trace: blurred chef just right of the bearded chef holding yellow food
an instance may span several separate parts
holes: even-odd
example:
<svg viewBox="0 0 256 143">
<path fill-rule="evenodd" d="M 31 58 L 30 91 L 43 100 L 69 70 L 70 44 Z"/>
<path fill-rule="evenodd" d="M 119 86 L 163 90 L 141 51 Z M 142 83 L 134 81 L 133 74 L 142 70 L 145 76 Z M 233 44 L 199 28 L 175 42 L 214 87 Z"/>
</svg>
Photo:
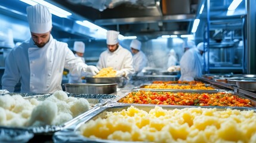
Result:
<svg viewBox="0 0 256 143">
<path fill-rule="evenodd" d="M 143 51 L 140 50 L 141 42 L 137 39 L 133 39 L 129 45 L 133 55 L 133 67 L 135 74 L 140 74 L 144 67 L 147 66 L 147 57 Z"/>
</svg>

